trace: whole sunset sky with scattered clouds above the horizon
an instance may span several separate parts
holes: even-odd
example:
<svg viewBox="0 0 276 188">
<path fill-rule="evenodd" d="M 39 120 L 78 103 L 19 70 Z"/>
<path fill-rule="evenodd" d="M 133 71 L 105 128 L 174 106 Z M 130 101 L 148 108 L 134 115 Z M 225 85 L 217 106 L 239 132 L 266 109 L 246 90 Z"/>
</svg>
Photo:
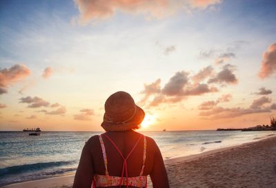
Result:
<svg viewBox="0 0 276 188">
<path fill-rule="evenodd" d="M 276 3 L 0 2 L 0 130 L 103 131 L 131 94 L 141 131 L 266 125 L 276 116 Z"/>
</svg>

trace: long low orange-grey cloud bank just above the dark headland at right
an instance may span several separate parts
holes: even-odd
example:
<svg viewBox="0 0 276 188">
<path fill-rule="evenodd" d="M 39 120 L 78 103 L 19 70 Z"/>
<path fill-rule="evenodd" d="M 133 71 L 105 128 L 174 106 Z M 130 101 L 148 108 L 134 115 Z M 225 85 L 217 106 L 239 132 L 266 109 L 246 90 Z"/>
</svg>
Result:
<svg viewBox="0 0 276 188">
<path fill-rule="evenodd" d="M 212 105 L 209 109 L 205 109 L 205 111 L 199 112 L 199 116 L 209 116 L 210 119 L 217 119 L 217 118 L 235 118 L 237 116 L 243 116 L 245 114 L 271 112 L 271 110 L 276 109 L 275 103 L 270 106 L 264 106 L 264 104 L 270 103 L 270 102 L 271 102 L 270 98 L 266 96 L 262 96 L 261 98 L 255 99 L 253 103 L 250 105 L 250 107 L 248 108 L 217 107 L 216 106 L 217 104 L 215 103 L 215 105 Z M 208 107 L 207 103 L 206 103 L 206 106 Z"/>
</svg>

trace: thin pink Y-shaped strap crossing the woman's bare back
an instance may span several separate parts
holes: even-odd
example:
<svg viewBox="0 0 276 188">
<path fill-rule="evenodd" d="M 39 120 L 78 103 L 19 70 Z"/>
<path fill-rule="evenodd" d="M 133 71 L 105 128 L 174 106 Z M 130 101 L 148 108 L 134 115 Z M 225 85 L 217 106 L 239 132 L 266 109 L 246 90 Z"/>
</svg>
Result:
<svg viewBox="0 0 276 188">
<path fill-rule="evenodd" d="M 134 147 L 132 147 L 131 151 L 129 152 L 128 156 L 126 156 L 126 158 L 124 158 L 123 154 L 121 153 L 121 150 L 119 149 L 119 147 L 117 147 L 117 145 L 113 142 L 113 140 L 111 140 L 111 138 L 109 138 L 109 136 L 107 136 L 106 134 L 103 134 L 104 136 L 106 136 L 106 138 L 108 138 L 108 140 L 110 140 L 110 143 L 112 143 L 112 145 L 115 147 L 115 149 L 117 149 L 117 152 L 121 155 L 121 158 L 124 159 L 124 165 L 123 165 L 123 169 L 121 171 L 121 182 L 120 182 L 120 187 L 121 184 L 123 182 L 123 178 L 124 178 L 124 172 L 126 170 L 126 187 L 128 188 L 128 163 L 126 163 L 126 161 L 128 160 L 129 156 L 132 154 L 132 152 L 134 151 L 134 149 L 136 148 L 136 146 L 139 143 L 139 140 L 141 140 L 142 136 L 141 135 L 137 142 L 135 143 Z"/>
</svg>

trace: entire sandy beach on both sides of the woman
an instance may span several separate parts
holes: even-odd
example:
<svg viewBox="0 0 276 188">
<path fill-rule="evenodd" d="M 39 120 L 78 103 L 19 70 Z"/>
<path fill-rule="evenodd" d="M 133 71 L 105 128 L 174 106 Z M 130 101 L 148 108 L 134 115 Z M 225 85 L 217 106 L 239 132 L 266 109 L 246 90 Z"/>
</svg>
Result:
<svg viewBox="0 0 276 188">
<path fill-rule="evenodd" d="M 276 136 L 165 163 L 170 187 L 276 187 Z M 65 188 L 72 187 L 73 180 L 70 174 L 6 187 Z"/>
</svg>

